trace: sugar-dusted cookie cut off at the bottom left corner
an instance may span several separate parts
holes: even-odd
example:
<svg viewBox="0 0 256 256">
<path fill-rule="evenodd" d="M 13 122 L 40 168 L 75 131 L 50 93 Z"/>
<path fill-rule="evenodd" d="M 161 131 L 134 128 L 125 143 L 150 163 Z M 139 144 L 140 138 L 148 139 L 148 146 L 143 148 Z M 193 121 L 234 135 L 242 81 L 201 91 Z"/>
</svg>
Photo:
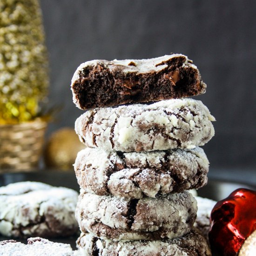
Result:
<svg viewBox="0 0 256 256">
<path fill-rule="evenodd" d="M 7 240 L 0 242 L 0 256 L 78 256 L 69 244 L 54 243 L 40 237 L 28 238 L 27 244 Z"/>
</svg>

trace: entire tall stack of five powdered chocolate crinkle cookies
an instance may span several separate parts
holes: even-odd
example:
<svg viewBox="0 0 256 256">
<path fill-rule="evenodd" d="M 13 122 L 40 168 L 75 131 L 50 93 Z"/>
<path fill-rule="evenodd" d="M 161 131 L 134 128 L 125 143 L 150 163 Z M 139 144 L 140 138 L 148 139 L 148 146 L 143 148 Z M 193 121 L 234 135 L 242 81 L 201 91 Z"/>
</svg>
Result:
<svg viewBox="0 0 256 256">
<path fill-rule="evenodd" d="M 197 206 L 187 191 L 207 183 L 209 162 L 198 146 L 214 135 L 208 108 L 186 98 L 205 92 L 197 67 L 182 54 L 88 61 L 71 88 L 74 103 L 87 110 L 75 122 L 87 146 L 74 164 L 79 249 L 93 256 L 210 255 L 193 228 Z"/>
</svg>

